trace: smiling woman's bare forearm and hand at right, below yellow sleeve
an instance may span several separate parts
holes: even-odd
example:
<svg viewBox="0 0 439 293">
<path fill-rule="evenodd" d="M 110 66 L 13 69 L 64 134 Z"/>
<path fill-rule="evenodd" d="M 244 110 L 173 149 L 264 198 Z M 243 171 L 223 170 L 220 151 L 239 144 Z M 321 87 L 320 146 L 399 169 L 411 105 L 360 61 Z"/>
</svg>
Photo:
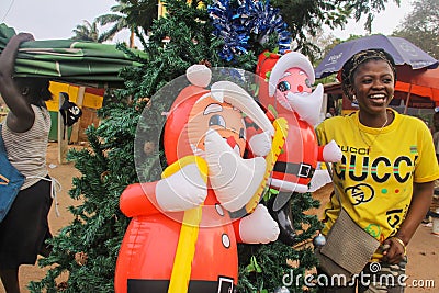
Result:
<svg viewBox="0 0 439 293">
<path fill-rule="evenodd" d="M 432 200 L 435 182 L 414 183 L 413 199 L 408 207 L 407 216 L 395 235 L 397 239 L 408 245 L 420 222 L 424 219 Z M 402 260 L 405 247 L 396 238 L 385 240 L 390 245 L 387 252 L 384 252 L 384 260 L 395 263 Z"/>
</svg>

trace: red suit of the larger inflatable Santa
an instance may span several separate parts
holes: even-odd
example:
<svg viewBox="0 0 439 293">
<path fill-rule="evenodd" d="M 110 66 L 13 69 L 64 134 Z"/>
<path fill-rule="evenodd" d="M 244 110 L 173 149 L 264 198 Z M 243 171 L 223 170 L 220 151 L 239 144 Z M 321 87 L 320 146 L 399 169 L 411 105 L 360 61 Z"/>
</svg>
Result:
<svg viewBox="0 0 439 293">
<path fill-rule="evenodd" d="M 157 183 L 130 185 L 121 209 L 133 217 L 117 260 L 116 292 L 167 292 L 176 257 L 183 213 L 162 213 L 148 199 Z M 238 263 L 235 229 L 210 189 L 192 262 L 188 292 L 228 292 L 237 283 Z M 206 227 L 206 228 L 203 228 Z M 126 285 L 125 285 L 126 284 Z M 123 288 L 126 288 L 125 291 Z M 223 291 L 225 290 L 225 291 Z"/>
</svg>

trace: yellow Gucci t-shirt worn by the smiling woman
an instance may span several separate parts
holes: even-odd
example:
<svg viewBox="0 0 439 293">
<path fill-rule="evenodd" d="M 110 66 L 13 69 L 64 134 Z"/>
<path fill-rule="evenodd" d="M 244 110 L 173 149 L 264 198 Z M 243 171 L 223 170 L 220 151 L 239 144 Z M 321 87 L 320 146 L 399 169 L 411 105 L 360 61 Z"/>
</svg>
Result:
<svg viewBox="0 0 439 293">
<path fill-rule="evenodd" d="M 382 129 L 360 124 L 358 112 L 327 119 L 316 129 L 322 145 L 334 139 L 341 148 L 341 161 L 333 165 L 333 181 L 342 206 L 381 243 L 395 235 L 404 221 L 413 182 L 439 178 L 435 146 L 426 124 L 393 112 L 394 121 Z M 325 210 L 323 234 L 333 226 L 339 209 L 333 194 Z"/>
</svg>

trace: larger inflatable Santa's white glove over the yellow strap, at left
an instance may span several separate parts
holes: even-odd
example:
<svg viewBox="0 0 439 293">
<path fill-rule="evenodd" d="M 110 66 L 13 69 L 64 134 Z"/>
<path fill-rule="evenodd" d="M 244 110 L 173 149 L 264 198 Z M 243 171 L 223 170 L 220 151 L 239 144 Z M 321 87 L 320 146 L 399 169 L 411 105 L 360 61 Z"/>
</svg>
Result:
<svg viewBox="0 0 439 293">
<path fill-rule="evenodd" d="M 180 212 L 201 205 L 207 196 L 205 179 L 195 162 L 188 164 L 156 185 L 158 205 L 167 212 Z"/>
</svg>

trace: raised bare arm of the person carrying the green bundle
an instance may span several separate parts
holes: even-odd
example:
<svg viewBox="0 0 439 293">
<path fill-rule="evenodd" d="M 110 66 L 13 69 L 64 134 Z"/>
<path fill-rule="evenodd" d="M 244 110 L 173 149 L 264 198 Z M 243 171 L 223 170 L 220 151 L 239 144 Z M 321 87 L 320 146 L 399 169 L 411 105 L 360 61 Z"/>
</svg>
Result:
<svg viewBox="0 0 439 293">
<path fill-rule="evenodd" d="M 12 76 L 20 44 L 33 40 L 33 36 L 26 33 L 14 35 L 0 55 L 0 94 L 10 109 L 7 123 L 8 127 L 19 133 L 31 128 L 35 116 L 30 102 L 21 93 Z"/>
</svg>

